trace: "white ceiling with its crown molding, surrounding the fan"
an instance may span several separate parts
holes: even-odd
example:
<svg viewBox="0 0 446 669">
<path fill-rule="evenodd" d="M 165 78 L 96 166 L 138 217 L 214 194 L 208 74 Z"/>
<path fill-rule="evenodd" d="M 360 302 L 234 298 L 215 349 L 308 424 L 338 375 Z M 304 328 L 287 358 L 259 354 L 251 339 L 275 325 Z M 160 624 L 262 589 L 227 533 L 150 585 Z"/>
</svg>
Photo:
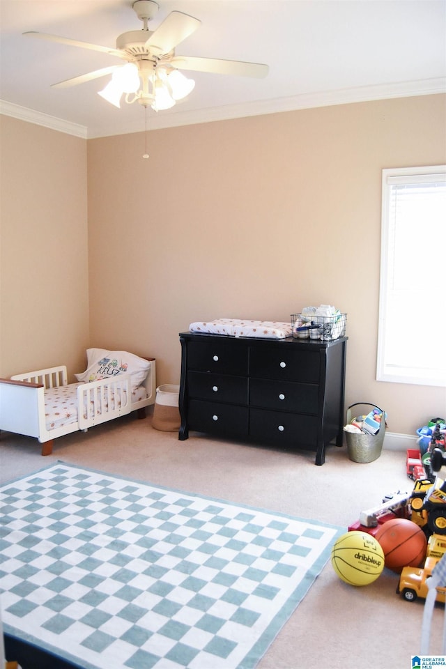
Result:
<svg viewBox="0 0 446 669">
<path fill-rule="evenodd" d="M 185 72 L 194 91 L 165 112 L 149 109 L 148 129 L 446 90 L 446 0 L 157 2 L 152 30 L 173 10 L 201 20 L 177 55 L 268 63 L 270 72 L 266 79 Z M 50 88 L 122 61 L 22 36 L 39 31 L 115 47 L 119 34 L 141 28 L 132 0 L 0 0 L 0 111 L 41 112 L 84 137 L 144 130 L 143 107 L 116 109 L 97 95 L 109 77 Z"/>
</svg>

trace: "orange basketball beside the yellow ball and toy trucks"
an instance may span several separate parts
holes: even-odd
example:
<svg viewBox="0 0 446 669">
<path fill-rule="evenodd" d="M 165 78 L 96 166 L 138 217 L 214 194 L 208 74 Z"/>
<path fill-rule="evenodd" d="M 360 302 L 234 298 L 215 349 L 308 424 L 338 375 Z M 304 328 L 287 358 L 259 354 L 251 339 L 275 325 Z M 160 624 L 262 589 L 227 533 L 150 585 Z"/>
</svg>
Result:
<svg viewBox="0 0 446 669">
<path fill-rule="evenodd" d="M 392 518 L 383 523 L 375 537 L 383 548 L 385 566 L 397 574 L 403 567 L 420 567 L 426 557 L 426 536 L 408 518 Z"/>
</svg>

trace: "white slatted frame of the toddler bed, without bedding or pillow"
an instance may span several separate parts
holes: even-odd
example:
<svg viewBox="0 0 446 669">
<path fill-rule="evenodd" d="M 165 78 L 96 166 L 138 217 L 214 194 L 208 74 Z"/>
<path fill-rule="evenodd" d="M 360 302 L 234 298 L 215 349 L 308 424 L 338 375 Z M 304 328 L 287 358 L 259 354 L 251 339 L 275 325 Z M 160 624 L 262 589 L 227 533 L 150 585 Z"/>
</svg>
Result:
<svg viewBox="0 0 446 669">
<path fill-rule="evenodd" d="M 87 415 L 79 410 L 76 422 L 47 430 L 45 424 L 45 390 L 68 385 L 65 365 L 38 369 L 11 378 L 0 378 L 0 431 L 37 437 L 42 444 L 42 455 L 52 453 L 53 440 L 89 427 L 113 420 L 137 410 L 138 417 L 146 416 L 146 406 L 155 403 L 156 363 L 154 358 L 146 358 L 151 363 L 143 385 L 146 399 L 132 402 L 130 374 L 119 374 L 77 387 L 77 406 L 87 407 Z M 126 392 L 123 392 L 126 391 Z M 119 393 L 121 402 L 114 402 L 114 392 Z M 116 396 L 117 397 L 117 396 Z M 118 405 L 118 406 L 115 406 Z M 95 407 L 100 406 L 96 411 Z"/>
</svg>

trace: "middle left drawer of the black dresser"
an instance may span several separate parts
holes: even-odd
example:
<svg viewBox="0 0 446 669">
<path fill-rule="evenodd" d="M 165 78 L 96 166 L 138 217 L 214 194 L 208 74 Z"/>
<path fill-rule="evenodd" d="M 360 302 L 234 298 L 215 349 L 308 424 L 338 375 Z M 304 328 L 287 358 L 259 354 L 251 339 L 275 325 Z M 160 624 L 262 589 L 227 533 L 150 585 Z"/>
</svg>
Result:
<svg viewBox="0 0 446 669">
<path fill-rule="evenodd" d="M 247 376 L 190 371 L 187 376 L 187 392 L 189 397 L 196 399 L 247 405 L 248 380 Z"/>
</svg>

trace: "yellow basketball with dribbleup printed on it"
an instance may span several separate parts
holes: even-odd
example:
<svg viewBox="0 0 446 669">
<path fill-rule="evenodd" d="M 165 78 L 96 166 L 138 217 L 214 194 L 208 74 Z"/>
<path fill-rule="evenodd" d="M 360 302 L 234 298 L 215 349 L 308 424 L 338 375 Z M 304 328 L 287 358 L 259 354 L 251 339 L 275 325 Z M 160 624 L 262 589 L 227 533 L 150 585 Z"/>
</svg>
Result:
<svg viewBox="0 0 446 669">
<path fill-rule="evenodd" d="M 346 532 L 333 544 L 332 566 L 348 585 L 369 585 L 384 569 L 384 553 L 367 532 Z"/>
</svg>

